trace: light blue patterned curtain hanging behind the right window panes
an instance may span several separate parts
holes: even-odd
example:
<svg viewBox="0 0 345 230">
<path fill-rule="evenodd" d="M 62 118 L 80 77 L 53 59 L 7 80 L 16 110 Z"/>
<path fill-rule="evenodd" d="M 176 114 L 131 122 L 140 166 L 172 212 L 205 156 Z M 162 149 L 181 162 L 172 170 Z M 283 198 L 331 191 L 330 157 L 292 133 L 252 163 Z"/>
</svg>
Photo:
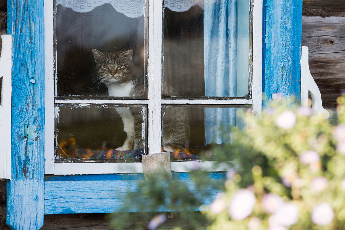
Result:
<svg viewBox="0 0 345 230">
<path fill-rule="evenodd" d="M 237 0 L 205 0 L 205 96 L 236 97 L 237 13 Z M 219 127 L 235 124 L 235 108 L 205 108 L 205 144 L 223 143 Z"/>
</svg>

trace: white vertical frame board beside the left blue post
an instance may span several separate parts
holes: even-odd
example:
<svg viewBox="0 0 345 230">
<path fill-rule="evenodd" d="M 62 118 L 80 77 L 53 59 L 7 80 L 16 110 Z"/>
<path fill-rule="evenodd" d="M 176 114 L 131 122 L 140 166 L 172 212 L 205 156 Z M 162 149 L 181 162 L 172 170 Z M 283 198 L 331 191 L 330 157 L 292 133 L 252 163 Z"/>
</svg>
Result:
<svg viewBox="0 0 345 230">
<path fill-rule="evenodd" d="M 45 174 L 54 173 L 54 21 L 53 1 L 45 0 Z"/>
</svg>

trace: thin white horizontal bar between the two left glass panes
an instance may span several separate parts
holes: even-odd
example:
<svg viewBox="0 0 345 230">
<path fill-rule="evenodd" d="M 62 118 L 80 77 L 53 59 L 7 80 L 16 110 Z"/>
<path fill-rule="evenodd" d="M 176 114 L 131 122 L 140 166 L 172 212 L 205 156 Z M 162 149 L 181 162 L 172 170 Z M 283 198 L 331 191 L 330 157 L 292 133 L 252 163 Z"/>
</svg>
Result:
<svg viewBox="0 0 345 230">
<path fill-rule="evenodd" d="M 148 104 L 148 100 L 55 100 L 56 104 Z"/>
</svg>

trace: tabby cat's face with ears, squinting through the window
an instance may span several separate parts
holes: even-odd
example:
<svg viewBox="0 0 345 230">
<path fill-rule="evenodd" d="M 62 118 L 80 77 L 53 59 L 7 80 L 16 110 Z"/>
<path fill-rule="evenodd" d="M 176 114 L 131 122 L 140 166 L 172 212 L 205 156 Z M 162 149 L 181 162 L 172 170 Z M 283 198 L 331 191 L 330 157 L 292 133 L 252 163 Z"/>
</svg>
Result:
<svg viewBox="0 0 345 230">
<path fill-rule="evenodd" d="M 96 72 L 104 83 L 127 83 L 132 80 L 134 64 L 132 60 L 133 50 L 125 52 L 102 53 L 92 49 L 96 62 Z"/>
</svg>

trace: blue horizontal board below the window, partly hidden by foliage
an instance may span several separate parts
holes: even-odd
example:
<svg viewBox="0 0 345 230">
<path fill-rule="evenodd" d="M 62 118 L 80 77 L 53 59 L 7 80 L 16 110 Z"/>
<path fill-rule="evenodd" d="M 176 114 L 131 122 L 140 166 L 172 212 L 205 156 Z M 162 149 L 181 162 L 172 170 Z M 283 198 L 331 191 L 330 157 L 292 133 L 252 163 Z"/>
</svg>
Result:
<svg viewBox="0 0 345 230">
<path fill-rule="evenodd" d="M 124 207 L 124 196 L 128 191 L 137 192 L 136 181 L 142 174 L 124 174 L 122 176 L 65 176 L 50 177 L 45 181 L 45 214 L 66 213 L 110 213 Z M 201 196 L 188 173 L 173 173 L 173 178 L 183 180 L 189 189 Z M 90 179 L 92 178 L 92 179 Z M 210 173 L 212 179 L 225 179 L 224 173 Z M 162 181 L 162 183 L 166 183 Z M 210 204 L 219 191 L 208 190 L 200 200 Z M 204 198 L 204 196 L 206 198 Z M 138 199 L 140 196 L 138 195 Z M 135 202 L 135 201 L 134 201 Z M 132 212 L 138 211 L 133 208 Z M 142 211 L 142 210 L 141 210 Z M 170 211 L 170 210 L 157 210 Z"/>
</svg>

